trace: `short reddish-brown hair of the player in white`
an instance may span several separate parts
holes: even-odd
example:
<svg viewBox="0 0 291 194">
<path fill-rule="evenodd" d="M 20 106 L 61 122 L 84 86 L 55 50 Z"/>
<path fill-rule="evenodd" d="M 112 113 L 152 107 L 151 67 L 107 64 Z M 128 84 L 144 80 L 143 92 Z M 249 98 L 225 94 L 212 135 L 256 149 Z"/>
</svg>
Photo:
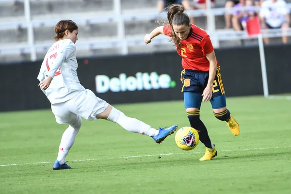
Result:
<svg viewBox="0 0 291 194">
<path fill-rule="evenodd" d="M 56 26 L 54 28 L 55 33 L 57 35 L 54 36 L 53 38 L 55 40 L 59 40 L 59 39 L 64 37 L 66 30 L 69 30 L 69 32 L 73 32 L 74 30 L 77 30 L 77 29 L 78 29 L 77 24 L 75 22 L 73 22 L 72 20 L 70 20 L 70 19 L 61 20 L 56 24 Z"/>
</svg>

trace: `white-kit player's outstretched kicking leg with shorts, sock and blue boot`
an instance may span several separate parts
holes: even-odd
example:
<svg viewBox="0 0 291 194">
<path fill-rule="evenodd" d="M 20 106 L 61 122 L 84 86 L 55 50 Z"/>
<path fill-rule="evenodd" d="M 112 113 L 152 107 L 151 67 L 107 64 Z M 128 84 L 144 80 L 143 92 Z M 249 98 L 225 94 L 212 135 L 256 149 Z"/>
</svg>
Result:
<svg viewBox="0 0 291 194">
<path fill-rule="evenodd" d="M 112 121 L 128 131 L 148 135 L 159 144 L 168 135 L 173 134 L 178 128 L 177 125 L 162 129 L 151 128 L 146 123 L 136 118 L 126 116 L 121 111 L 109 105 L 103 99 L 96 97 L 91 90 L 85 90 L 74 98 L 76 98 L 76 100 L 72 101 L 73 104 L 79 104 L 79 106 L 73 113 L 76 113 L 87 120 L 105 119 Z"/>
</svg>

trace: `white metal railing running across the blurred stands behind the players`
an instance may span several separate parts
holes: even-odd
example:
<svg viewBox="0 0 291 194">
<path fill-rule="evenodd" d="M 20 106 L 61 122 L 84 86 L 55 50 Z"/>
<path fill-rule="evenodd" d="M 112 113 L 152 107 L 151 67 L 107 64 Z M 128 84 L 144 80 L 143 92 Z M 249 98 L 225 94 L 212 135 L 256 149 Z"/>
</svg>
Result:
<svg viewBox="0 0 291 194">
<path fill-rule="evenodd" d="M 12 0 L 1 0 L 1 1 L 12 1 Z M 32 19 L 31 18 L 31 10 L 30 10 L 30 0 L 18 0 L 24 2 L 24 13 L 25 13 L 25 21 L 9 21 L 9 22 L 0 22 L 0 30 L 13 30 L 18 29 L 19 26 L 21 28 L 26 28 L 28 32 L 27 44 L 24 45 L 0 45 L 0 54 L 16 54 L 16 53 L 30 53 L 31 61 L 36 60 L 37 52 L 45 52 L 51 44 L 35 44 L 33 29 L 47 26 L 53 27 L 59 19 Z M 210 1 L 210 0 L 208 0 Z M 145 45 L 143 38 L 144 36 L 135 36 L 135 37 L 127 37 L 125 35 L 125 25 L 126 21 L 142 21 L 142 20 L 155 20 L 159 18 L 166 18 L 166 13 L 157 13 L 157 12 L 149 12 L 149 13 L 139 13 L 139 14 L 123 14 L 121 11 L 121 3 L 120 0 L 113 0 L 114 3 L 114 14 L 106 15 L 106 16 L 86 16 L 71 18 L 77 24 L 98 24 L 98 23 L 108 23 L 108 22 L 117 22 L 117 38 L 110 38 L 106 40 L 90 40 L 90 41 L 78 41 L 78 49 L 104 49 L 104 48 L 122 48 L 121 54 L 128 54 L 128 48 L 131 46 L 141 46 Z M 291 4 L 288 4 L 288 7 L 291 8 Z M 245 9 L 245 8 L 242 8 Z M 255 10 L 259 10 L 259 7 L 255 7 Z M 234 8 L 226 10 L 225 8 L 213 8 L 206 10 L 189 10 L 187 14 L 189 16 L 207 16 L 207 32 L 210 34 L 213 46 L 215 48 L 219 47 L 219 41 L 221 40 L 239 40 L 239 39 L 249 39 L 249 38 L 257 38 L 248 37 L 245 31 L 235 32 L 217 32 L 215 30 L 215 20 L 214 16 L 224 15 L 226 12 L 232 13 Z M 288 36 L 291 36 L 291 29 L 287 32 Z M 280 37 L 282 36 L 282 32 L 280 29 L 272 29 L 272 30 L 262 30 L 263 37 Z M 166 36 L 158 36 L 151 43 L 153 45 L 162 45 L 167 44 L 168 38 Z"/>
</svg>

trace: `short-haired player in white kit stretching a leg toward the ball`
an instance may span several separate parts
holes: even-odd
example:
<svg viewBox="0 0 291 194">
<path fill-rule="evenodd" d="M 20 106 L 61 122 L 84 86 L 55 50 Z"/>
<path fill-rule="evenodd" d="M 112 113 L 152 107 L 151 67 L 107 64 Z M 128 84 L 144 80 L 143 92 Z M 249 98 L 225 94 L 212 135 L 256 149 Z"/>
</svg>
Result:
<svg viewBox="0 0 291 194">
<path fill-rule="evenodd" d="M 72 20 L 61 20 L 55 28 L 57 34 L 55 42 L 48 50 L 41 65 L 37 79 L 38 86 L 48 97 L 51 110 L 59 124 L 67 124 L 58 157 L 53 170 L 71 168 L 65 162 L 65 157 L 75 142 L 82 124 L 81 117 L 87 120 L 106 119 L 118 123 L 131 132 L 145 134 L 152 137 L 156 143 L 162 141 L 178 128 L 151 128 L 146 123 L 126 116 L 103 99 L 85 89 L 77 75 L 76 41 L 78 40 L 78 26 Z"/>
</svg>

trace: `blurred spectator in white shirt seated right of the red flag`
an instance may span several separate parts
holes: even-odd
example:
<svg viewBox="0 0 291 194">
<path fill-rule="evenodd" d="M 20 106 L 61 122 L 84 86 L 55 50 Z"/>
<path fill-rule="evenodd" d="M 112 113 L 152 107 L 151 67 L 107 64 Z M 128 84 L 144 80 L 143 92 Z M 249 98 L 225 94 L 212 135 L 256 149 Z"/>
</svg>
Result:
<svg viewBox="0 0 291 194">
<path fill-rule="evenodd" d="M 262 29 L 279 29 L 283 31 L 282 42 L 288 43 L 288 31 L 290 14 L 285 0 L 265 0 L 259 12 Z M 269 44 L 269 38 L 264 38 L 265 44 Z"/>
</svg>

